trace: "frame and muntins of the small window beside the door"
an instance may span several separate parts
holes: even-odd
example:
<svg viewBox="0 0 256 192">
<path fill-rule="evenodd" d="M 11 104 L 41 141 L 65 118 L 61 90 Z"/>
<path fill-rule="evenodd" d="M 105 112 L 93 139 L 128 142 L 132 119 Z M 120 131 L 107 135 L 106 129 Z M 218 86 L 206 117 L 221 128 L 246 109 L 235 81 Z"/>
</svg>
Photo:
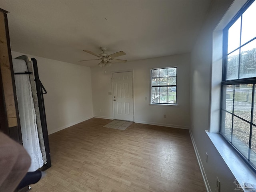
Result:
<svg viewBox="0 0 256 192">
<path fill-rule="evenodd" d="M 169 69 L 169 68 L 176 68 L 176 85 L 157 85 L 157 86 L 153 86 L 152 85 L 152 70 L 160 70 L 160 69 Z M 167 76 L 168 77 L 174 77 L 174 76 Z M 176 87 L 176 103 L 156 103 L 156 102 L 152 102 L 152 88 L 153 87 Z M 168 95 L 168 94 L 167 94 Z M 161 67 L 161 68 L 150 68 L 150 105 L 162 105 L 162 106 L 177 106 L 178 102 L 177 102 L 177 67 L 176 66 L 172 66 L 172 67 Z"/>
</svg>

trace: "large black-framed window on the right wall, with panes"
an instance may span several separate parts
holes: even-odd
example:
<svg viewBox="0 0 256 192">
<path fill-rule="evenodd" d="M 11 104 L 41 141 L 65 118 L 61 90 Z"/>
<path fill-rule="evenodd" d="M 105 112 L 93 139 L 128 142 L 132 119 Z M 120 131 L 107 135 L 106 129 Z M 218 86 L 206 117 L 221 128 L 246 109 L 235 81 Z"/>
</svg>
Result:
<svg viewBox="0 0 256 192">
<path fill-rule="evenodd" d="M 223 31 L 220 134 L 256 172 L 256 1 Z"/>
</svg>

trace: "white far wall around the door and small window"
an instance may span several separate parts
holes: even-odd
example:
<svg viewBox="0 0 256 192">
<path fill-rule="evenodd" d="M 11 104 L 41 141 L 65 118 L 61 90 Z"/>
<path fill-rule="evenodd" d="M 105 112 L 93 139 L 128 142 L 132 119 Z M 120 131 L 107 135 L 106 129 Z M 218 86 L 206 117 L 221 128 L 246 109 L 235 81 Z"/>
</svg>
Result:
<svg viewBox="0 0 256 192">
<path fill-rule="evenodd" d="M 178 106 L 150 106 L 150 68 L 177 66 L 177 101 Z M 102 68 L 91 68 L 92 98 L 94 116 L 100 118 L 113 118 L 111 72 L 133 70 L 134 72 L 134 111 L 135 122 L 156 124 L 176 128 L 189 128 L 190 126 L 190 54 L 152 58 L 126 62 L 125 64 L 112 64 Z M 148 100 L 145 100 L 145 97 Z M 166 114 L 167 118 L 164 118 Z"/>
</svg>

